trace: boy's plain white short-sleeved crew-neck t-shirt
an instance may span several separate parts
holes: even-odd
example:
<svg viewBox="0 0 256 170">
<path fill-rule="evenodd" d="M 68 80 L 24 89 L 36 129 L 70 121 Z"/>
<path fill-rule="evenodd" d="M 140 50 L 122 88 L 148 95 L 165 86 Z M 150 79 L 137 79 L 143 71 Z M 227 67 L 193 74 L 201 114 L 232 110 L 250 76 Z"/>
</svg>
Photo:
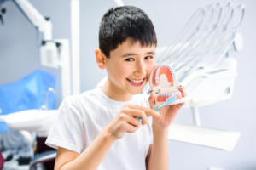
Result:
<svg viewBox="0 0 256 170">
<path fill-rule="evenodd" d="M 96 88 L 68 97 L 61 103 L 45 144 L 81 154 L 125 104 L 149 107 L 148 95 L 137 94 L 129 101 L 120 102 L 108 98 L 100 88 Z M 150 116 L 148 124 L 116 140 L 97 170 L 146 169 L 149 144 L 153 143 L 151 124 Z"/>
</svg>

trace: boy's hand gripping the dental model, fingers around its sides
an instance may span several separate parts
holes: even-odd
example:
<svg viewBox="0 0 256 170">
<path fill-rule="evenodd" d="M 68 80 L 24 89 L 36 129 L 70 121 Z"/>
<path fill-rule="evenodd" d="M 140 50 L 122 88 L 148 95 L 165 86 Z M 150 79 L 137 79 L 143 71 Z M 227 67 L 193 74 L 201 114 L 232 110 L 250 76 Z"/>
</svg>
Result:
<svg viewBox="0 0 256 170">
<path fill-rule="evenodd" d="M 184 90 L 185 90 L 184 87 L 179 88 L 179 91 L 182 93 L 182 97 L 185 97 L 187 95 L 184 92 Z M 154 109 L 157 107 L 157 105 L 155 105 L 155 96 L 153 92 L 150 93 L 148 101 L 151 109 Z M 157 123 L 162 128 L 169 127 L 172 121 L 174 120 L 175 116 L 177 115 L 177 112 L 180 110 L 180 108 L 184 104 L 185 102 L 177 105 L 166 105 L 165 107 L 161 108 L 160 111 L 158 111 L 160 113 L 160 116 L 153 117 L 153 123 Z"/>
</svg>

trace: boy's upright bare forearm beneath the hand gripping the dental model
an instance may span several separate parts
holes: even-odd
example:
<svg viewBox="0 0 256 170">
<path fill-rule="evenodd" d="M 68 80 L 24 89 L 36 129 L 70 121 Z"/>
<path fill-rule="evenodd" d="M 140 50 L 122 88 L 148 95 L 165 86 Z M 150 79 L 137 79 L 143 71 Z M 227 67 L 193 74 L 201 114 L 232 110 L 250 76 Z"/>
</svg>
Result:
<svg viewBox="0 0 256 170">
<path fill-rule="evenodd" d="M 152 128 L 154 137 L 153 144 L 150 144 L 146 158 L 147 170 L 167 170 L 169 167 L 168 128 L 162 128 L 156 124 L 152 124 Z"/>
</svg>

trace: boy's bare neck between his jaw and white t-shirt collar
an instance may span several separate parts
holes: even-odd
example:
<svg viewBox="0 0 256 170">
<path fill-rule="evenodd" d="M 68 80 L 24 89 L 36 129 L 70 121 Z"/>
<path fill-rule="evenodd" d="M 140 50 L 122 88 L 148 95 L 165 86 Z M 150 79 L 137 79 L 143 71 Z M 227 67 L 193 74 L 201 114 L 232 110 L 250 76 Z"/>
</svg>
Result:
<svg viewBox="0 0 256 170">
<path fill-rule="evenodd" d="M 132 98 L 132 94 L 119 88 L 111 80 L 107 80 L 105 84 L 101 87 L 102 92 L 108 96 L 108 98 L 116 101 L 129 101 Z"/>
</svg>

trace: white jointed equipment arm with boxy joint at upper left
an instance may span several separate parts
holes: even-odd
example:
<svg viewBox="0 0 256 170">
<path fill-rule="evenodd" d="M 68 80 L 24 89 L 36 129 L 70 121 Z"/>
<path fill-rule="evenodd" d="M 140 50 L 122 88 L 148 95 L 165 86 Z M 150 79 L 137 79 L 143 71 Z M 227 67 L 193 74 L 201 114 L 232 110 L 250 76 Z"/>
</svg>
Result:
<svg viewBox="0 0 256 170">
<path fill-rule="evenodd" d="M 1 8 L 6 0 L 0 0 L 0 20 L 1 13 L 4 14 L 5 9 Z M 13 0 L 15 5 L 20 9 L 26 19 L 35 26 L 39 32 L 44 34 L 42 43 L 39 47 L 41 65 L 61 68 L 61 87 L 62 99 L 71 95 L 71 68 L 70 68 L 70 52 L 68 39 L 53 39 L 52 23 L 49 17 L 44 17 L 32 6 L 27 0 Z"/>
</svg>

